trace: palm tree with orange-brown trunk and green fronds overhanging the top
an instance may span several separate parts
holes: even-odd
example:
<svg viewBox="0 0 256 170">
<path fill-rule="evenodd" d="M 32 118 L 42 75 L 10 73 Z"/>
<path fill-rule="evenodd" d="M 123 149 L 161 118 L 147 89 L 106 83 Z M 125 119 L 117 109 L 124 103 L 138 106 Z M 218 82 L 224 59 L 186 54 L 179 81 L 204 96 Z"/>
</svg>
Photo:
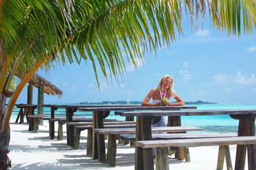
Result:
<svg viewBox="0 0 256 170">
<path fill-rule="evenodd" d="M 207 7 L 213 26 L 228 34 L 239 36 L 242 23 L 247 34 L 256 26 L 254 0 L 0 0 L 0 169 L 9 166 L 14 104 L 39 67 L 84 59 L 96 79 L 98 63 L 106 78 L 109 69 L 118 81 L 125 56 L 137 66 L 145 52 L 169 47 L 182 34 L 183 11 L 193 24 Z M 22 81 L 10 92 L 15 75 Z"/>
</svg>

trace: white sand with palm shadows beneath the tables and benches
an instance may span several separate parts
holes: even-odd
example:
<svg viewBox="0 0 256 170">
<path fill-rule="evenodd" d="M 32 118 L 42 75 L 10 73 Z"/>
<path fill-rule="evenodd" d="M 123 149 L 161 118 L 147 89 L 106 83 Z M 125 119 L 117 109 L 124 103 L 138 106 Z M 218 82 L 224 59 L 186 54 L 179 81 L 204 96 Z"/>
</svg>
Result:
<svg viewBox="0 0 256 170">
<path fill-rule="evenodd" d="M 12 160 L 12 170 L 134 170 L 135 149 L 129 145 L 118 144 L 117 166 L 109 167 L 108 164 L 99 163 L 86 155 L 87 131 L 81 132 L 79 150 L 73 150 L 66 145 L 65 125 L 64 140 L 50 139 L 47 121 L 44 121 L 44 126 L 39 126 L 38 134 L 28 131 L 27 123 L 10 123 L 10 127 L 9 157 Z M 58 130 L 57 123 L 55 129 Z M 55 136 L 57 138 L 57 132 Z M 169 161 L 170 170 L 216 170 L 218 146 L 189 150 L 191 162 L 172 159 Z M 230 146 L 230 152 L 234 169 L 236 146 Z M 223 170 L 225 169 L 224 162 Z M 248 170 L 247 162 L 245 170 Z"/>
</svg>

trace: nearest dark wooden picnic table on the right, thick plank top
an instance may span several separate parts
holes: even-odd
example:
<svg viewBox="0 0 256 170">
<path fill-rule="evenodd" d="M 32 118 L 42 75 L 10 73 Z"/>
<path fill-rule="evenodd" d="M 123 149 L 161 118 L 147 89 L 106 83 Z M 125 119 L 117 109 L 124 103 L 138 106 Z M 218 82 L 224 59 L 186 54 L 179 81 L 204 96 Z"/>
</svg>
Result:
<svg viewBox="0 0 256 170">
<path fill-rule="evenodd" d="M 238 119 L 238 136 L 255 136 L 256 109 L 228 109 L 228 110 L 148 110 L 148 111 L 116 111 L 120 116 L 136 116 L 136 140 L 151 140 L 152 131 L 150 118 L 152 116 L 210 116 L 229 115 Z M 198 120 L 199 121 L 199 120 Z M 248 167 L 256 170 L 256 145 L 248 145 Z M 235 170 L 244 170 L 246 145 L 237 145 Z M 154 170 L 152 148 L 136 147 L 135 170 Z"/>
</svg>

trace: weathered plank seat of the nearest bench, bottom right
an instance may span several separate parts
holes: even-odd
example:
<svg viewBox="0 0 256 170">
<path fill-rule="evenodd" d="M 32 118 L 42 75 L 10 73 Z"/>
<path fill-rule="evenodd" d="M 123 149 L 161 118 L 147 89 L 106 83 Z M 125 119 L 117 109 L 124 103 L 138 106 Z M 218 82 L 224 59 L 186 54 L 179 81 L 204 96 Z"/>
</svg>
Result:
<svg viewBox="0 0 256 170">
<path fill-rule="evenodd" d="M 241 145 L 256 143 L 256 136 L 235 136 L 235 137 L 213 137 L 213 138 L 193 138 L 193 139 L 173 139 L 173 140 L 145 140 L 137 141 L 136 145 L 141 148 L 157 147 L 198 147 L 215 145 Z"/>
</svg>

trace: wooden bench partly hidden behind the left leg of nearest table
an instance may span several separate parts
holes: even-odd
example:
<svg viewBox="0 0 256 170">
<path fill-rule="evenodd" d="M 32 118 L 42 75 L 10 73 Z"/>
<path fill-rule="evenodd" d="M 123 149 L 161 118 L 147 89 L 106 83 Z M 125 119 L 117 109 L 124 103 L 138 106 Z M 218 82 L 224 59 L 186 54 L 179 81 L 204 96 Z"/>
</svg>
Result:
<svg viewBox="0 0 256 170">
<path fill-rule="evenodd" d="M 194 127 L 194 126 L 170 126 L 170 127 L 152 127 L 153 133 L 158 132 L 187 132 L 187 131 L 202 131 L 202 128 Z M 120 134 L 135 134 L 136 128 L 126 128 L 126 129 L 94 129 L 95 133 L 98 133 L 98 135 L 108 135 L 108 148 L 107 148 L 107 161 L 109 162 L 109 166 L 115 167 L 116 166 L 116 153 L 117 153 L 117 135 L 121 136 Z M 152 134 L 154 135 L 176 135 L 177 134 Z M 186 135 L 186 134 L 182 134 Z M 120 137 L 121 139 L 124 139 Z M 125 140 L 125 139 L 124 139 Z"/>
</svg>

